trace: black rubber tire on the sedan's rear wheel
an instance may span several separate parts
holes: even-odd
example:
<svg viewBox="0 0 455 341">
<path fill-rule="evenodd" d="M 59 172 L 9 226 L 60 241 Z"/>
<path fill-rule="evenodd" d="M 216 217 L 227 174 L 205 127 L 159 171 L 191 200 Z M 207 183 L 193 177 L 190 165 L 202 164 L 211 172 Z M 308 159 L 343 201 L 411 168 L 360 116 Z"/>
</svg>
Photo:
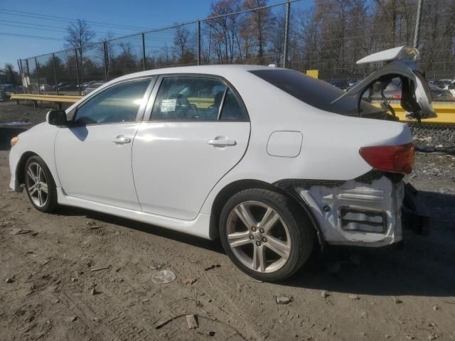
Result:
<svg viewBox="0 0 455 341">
<path fill-rule="evenodd" d="M 282 265 L 279 268 L 277 268 L 276 271 L 271 272 L 256 271 L 255 269 L 251 269 L 250 267 L 245 266 L 244 264 L 245 259 L 244 262 L 242 262 L 242 260 L 240 260 L 241 257 L 236 256 L 236 254 L 234 253 L 234 251 L 232 251 L 230 247 L 228 241 L 228 219 L 230 219 L 231 212 L 233 214 L 233 212 L 235 212 L 234 210 L 240 207 L 238 205 L 242 203 L 247 204 L 247 202 L 253 202 L 253 204 L 250 205 L 254 205 L 254 202 L 260 202 L 264 205 L 267 205 L 281 217 L 282 220 L 279 220 L 280 221 L 279 225 L 281 225 L 282 228 L 284 228 L 284 224 L 282 224 L 282 222 L 284 222 L 287 226 L 287 230 L 289 231 L 289 237 L 291 241 L 289 256 L 287 256 L 287 260 L 285 260 L 285 258 L 282 259 L 281 261 Z M 233 224 L 232 220 L 230 220 L 230 224 Z M 238 222 L 236 222 L 235 224 L 238 224 Z M 240 224 L 243 224 L 243 222 L 241 222 Z M 257 233 L 247 232 L 248 230 L 249 229 L 247 229 L 243 233 Z M 262 231 L 264 230 L 262 229 Z M 250 239 L 252 239 L 253 238 L 252 234 L 250 234 L 249 237 Z M 309 259 L 309 256 L 314 245 L 314 227 L 312 226 L 308 217 L 306 217 L 306 214 L 303 212 L 301 207 L 299 207 L 299 205 L 296 205 L 289 197 L 273 192 L 271 190 L 252 188 L 248 190 L 242 190 L 241 192 L 230 197 L 228 202 L 225 203 L 225 206 L 223 207 L 223 210 L 220 215 L 220 238 L 226 254 L 228 254 L 231 261 L 240 270 L 245 272 L 245 274 L 248 274 L 249 276 L 256 278 L 260 281 L 282 281 L 283 279 L 288 278 L 297 270 L 299 270 L 301 266 L 305 263 L 305 261 Z M 270 242 L 270 240 L 268 240 L 268 242 Z M 258 245 L 257 242 L 254 243 Z M 254 243 L 252 247 L 253 250 L 256 250 Z M 261 245 L 260 241 L 259 245 Z M 245 246 L 250 247 L 250 244 L 245 244 Z M 267 250 L 267 238 L 265 239 L 262 248 L 264 247 L 266 247 Z M 252 252 L 254 253 L 255 251 Z M 244 254 L 246 254 L 246 251 L 244 252 Z M 267 259 L 267 257 L 265 257 L 264 259 Z M 254 260 L 252 264 L 254 266 L 255 264 Z"/>
</svg>

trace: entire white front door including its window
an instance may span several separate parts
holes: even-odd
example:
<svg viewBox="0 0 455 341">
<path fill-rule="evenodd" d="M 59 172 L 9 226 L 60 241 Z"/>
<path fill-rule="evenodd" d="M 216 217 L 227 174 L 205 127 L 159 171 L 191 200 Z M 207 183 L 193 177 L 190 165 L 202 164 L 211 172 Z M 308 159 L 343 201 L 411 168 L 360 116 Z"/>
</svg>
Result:
<svg viewBox="0 0 455 341">
<path fill-rule="evenodd" d="M 70 127 L 59 129 L 55 163 L 66 195 L 140 210 L 132 141 L 150 82 L 141 79 L 107 87 L 77 108 Z"/>
</svg>

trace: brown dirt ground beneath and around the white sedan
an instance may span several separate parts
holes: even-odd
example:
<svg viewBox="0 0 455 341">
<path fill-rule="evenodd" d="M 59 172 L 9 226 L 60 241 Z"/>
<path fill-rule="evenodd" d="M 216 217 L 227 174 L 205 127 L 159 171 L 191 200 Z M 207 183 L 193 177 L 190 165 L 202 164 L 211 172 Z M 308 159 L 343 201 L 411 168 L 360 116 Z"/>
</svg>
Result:
<svg viewBox="0 0 455 341">
<path fill-rule="evenodd" d="M 44 114 L 0 104 L 0 122 L 31 126 Z M 219 241 L 89 210 L 34 210 L 8 187 L 9 139 L 21 129 L 0 125 L 0 340 L 455 340 L 453 156 L 419 153 L 410 176 L 429 237 L 406 233 L 403 250 L 327 248 L 272 284 L 237 270 Z M 154 283 L 162 269 L 176 280 Z"/>
</svg>

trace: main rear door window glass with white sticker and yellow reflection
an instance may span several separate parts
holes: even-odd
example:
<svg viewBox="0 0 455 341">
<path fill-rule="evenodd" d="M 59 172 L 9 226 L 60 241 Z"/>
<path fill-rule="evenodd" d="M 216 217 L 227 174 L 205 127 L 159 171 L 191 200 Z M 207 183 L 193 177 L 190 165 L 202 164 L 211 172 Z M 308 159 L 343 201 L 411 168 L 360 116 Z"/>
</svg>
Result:
<svg viewBox="0 0 455 341">
<path fill-rule="evenodd" d="M 226 85 L 203 77 L 166 77 L 156 94 L 151 119 L 159 121 L 216 121 Z"/>
</svg>

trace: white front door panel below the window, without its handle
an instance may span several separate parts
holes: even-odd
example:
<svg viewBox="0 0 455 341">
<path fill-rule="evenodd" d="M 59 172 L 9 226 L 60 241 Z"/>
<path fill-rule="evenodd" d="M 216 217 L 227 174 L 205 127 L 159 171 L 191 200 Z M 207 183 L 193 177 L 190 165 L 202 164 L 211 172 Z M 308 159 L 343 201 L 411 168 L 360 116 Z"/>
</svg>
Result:
<svg viewBox="0 0 455 341">
<path fill-rule="evenodd" d="M 55 164 L 65 194 L 141 210 L 132 173 L 132 143 L 114 144 L 117 136 L 134 139 L 139 123 L 96 124 L 59 129 Z"/>
</svg>

